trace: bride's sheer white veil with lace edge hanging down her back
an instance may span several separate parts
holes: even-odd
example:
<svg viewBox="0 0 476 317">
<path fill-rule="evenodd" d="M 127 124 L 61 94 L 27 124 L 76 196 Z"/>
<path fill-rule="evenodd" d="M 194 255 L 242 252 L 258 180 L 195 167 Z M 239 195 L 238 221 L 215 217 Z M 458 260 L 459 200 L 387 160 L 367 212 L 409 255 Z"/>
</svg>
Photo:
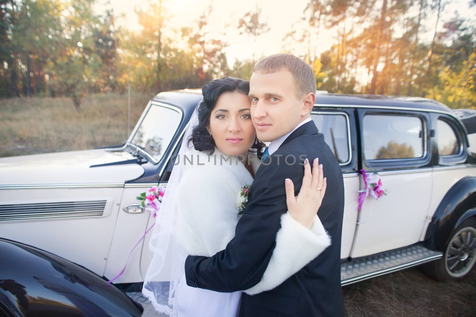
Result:
<svg viewBox="0 0 476 317">
<path fill-rule="evenodd" d="M 196 151 L 191 143 L 188 148 L 188 139 L 192 134 L 193 127 L 198 125 L 198 107 L 202 101 L 203 98 L 198 102 L 188 121 L 178 151 L 178 158 L 183 158 L 184 155 L 190 156 Z M 185 274 L 185 259 L 188 256 L 187 250 L 177 239 L 178 207 L 176 196 L 178 184 L 183 176 L 183 167 L 183 164 L 173 167 L 165 188 L 149 242 L 149 249 L 154 252 L 154 255 L 142 287 L 142 294 L 149 298 L 155 310 L 169 316 L 177 316 L 174 307 L 175 289 Z"/>
</svg>

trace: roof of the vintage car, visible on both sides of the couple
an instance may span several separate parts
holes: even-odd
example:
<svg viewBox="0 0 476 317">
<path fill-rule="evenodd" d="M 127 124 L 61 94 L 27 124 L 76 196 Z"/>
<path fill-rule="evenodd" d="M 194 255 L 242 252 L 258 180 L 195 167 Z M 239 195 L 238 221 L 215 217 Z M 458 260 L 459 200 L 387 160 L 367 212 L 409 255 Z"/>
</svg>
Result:
<svg viewBox="0 0 476 317">
<path fill-rule="evenodd" d="M 186 112 L 193 111 L 201 99 L 201 89 L 182 89 L 161 92 L 152 100 L 180 106 Z M 452 109 L 433 99 L 406 96 L 317 94 L 315 106 L 402 108 L 443 112 L 454 115 Z M 191 109 L 190 109 L 191 108 Z"/>
</svg>

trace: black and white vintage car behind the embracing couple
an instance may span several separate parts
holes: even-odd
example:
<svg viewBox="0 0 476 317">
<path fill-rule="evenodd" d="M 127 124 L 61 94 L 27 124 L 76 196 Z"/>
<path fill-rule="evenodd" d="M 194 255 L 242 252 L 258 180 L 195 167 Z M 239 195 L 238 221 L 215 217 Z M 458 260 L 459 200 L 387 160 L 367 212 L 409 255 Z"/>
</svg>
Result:
<svg viewBox="0 0 476 317">
<path fill-rule="evenodd" d="M 198 89 L 158 94 L 121 145 L 0 158 L 0 312 L 17 296 L 2 281 L 35 275 L 34 267 L 5 268 L 4 248 L 20 244 L 104 281 L 127 263 L 114 287 L 140 301 L 150 233 L 133 247 L 155 219 L 137 197 L 167 185 L 200 97 Z M 311 117 L 344 176 L 342 285 L 420 264 L 439 280 L 465 277 L 476 261 L 476 111 L 424 98 L 318 94 Z M 378 172 L 388 195 L 367 198 L 359 211 L 362 169 Z M 25 283 L 26 294 L 38 288 Z M 44 305 L 65 301 L 58 298 Z"/>
</svg>

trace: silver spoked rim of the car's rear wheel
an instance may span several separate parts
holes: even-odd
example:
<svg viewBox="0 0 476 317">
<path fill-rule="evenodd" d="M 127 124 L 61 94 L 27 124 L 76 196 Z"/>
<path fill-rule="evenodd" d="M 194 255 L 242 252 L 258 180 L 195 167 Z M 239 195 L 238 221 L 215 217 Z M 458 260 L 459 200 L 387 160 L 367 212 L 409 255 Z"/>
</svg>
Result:
<svg viewBox="0 0 476 317">
<path fill-rule="evenodd" d="M 466 275 L 476 261 L 476 229 L 458 231 L 446 250 L 446 270 L 453 277 Z"/>
</svg>

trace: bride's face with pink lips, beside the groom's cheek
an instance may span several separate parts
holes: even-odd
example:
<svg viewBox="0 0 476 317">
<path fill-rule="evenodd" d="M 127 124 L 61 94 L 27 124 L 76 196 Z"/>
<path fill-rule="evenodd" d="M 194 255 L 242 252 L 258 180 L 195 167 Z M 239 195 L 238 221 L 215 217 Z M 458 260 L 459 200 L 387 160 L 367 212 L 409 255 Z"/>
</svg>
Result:
<svg viewBox="0 0 476 317">
<path fill-rule="evenodd" d="M 239 92 L 223 93 L 211 111 L 208 127 L 215 144 L 227 155 L 245 155 L 255 142 L 248 96 Z"/>
</svg>

